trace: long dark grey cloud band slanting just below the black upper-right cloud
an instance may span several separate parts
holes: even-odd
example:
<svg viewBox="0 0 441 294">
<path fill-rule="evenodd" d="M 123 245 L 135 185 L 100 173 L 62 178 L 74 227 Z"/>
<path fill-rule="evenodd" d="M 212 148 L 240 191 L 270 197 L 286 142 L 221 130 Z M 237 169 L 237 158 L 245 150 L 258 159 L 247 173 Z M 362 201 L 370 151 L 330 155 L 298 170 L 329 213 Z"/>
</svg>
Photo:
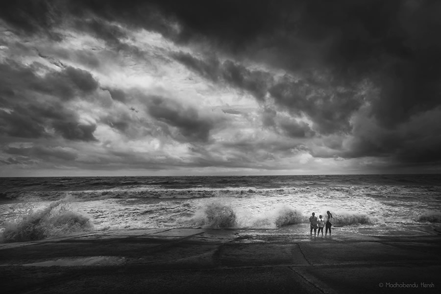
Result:
<svg viewBox="0 0 441 294">
<path fill-rule="evenodd" d="M 258 101 L 264 101 L 268 92 L 277 110 L 289 110 L 295 116 L 306 114 L 322 134 L 350 131 L 349 118 L 364 102 L 354 89 L 330 87 L 312 74 L 296 80 L 285 76 L 274 82 L 270 73 L 251 71 L 230 60 L 220 63 L 211 57 L 204 61 L 182 52 L 175 54 L 175 58 L 210 80 L 248 91 Z M 295 132 L 288 130 L 288 133 Z"/>
</svg>

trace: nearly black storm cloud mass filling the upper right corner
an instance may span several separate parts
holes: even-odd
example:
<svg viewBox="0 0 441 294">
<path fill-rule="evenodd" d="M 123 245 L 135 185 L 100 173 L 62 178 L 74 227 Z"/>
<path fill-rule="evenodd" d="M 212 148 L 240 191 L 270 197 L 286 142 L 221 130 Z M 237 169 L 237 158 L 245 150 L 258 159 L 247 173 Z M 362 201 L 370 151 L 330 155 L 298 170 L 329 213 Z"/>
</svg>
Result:
<svg viewBox="0 0 441 294">
<path fill-rule="evenodd" d="M 275 48 L 277 64 L 291 70 L 301 70 L 319 59 L 317 67 L 330 70 L 335 85 L 372 78 L 381 89 L 381 98 L 373 101 L 372 115 L 385 126 L 392 127 L 441 103 L 441 41 L 436 36 L 441 30 L 440 2 L 198 4 L 165 1 L 159 5 L 181 21 L 187 36 L 204 35 L 213 42 L 230 44 L 238 53 L 244 47 Z M 259 21 L 254 22 L 255 18 Z M 308 48 L 302 47 L 306 42 L 316 44 L 318 52 L 310 57 L 314 60 L 296 57 L 309 56 L 303 51 Z"/>
</svg>

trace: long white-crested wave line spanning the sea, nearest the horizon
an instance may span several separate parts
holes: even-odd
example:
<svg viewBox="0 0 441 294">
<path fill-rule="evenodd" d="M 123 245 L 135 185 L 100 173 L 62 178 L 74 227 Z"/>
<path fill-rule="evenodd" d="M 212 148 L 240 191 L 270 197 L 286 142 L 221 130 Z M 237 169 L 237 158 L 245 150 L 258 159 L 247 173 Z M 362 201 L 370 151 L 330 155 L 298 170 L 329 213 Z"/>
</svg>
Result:
<svg viewBox="0 0 441 294">
<path fill-rule="evenodd" d="M 22 202 L 37 202 L 58 200 L 71 196 L 72 201 L 102 200 L 107 198 L 160 198 L 160 199 L 191 199 L 210 197 L 252 197 L 252 196 L 370 196 L 383 197 L 427 197 L 436 195 L 440 190 L 435 186 L 357 186 L 357 187 L 284 187 L 274 189 L 257 189 L 254 187 L 240 188 L 188 188 L 188 189 L 160 189 L 149 187 L 118 187 L 106 190 L 84 191 L 5 191 L 0 194 L 1 199 Z M 435 191 L 435 192 L 436 192 Z"/>
</svg>

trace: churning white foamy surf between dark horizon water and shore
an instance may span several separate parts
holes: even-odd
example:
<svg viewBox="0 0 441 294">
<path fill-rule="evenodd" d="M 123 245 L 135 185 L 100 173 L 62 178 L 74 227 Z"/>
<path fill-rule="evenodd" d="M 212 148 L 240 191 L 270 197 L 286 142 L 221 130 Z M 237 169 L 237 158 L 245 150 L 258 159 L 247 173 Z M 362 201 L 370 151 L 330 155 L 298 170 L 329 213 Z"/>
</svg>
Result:
<svg viewBox="0 0 441 294">
<path fill-rule="evenodd" d="M 247 179 L 231 179 L 233 182 L 242 181 L 244 185 L 229 187 L 232 182 L 226 180 L 221 185 L 217 182 L 215 187 L 211 187 L 203 184 L 205 178 L 197 185 L 191 184 L 191 178 L 178 178 L 179 185 L 163 178 L 158 179 L 158 183 L 163 183 L 161 185 L 142 185 L 144 179 L 140 180 L 141 184 L 132 185 L 130 181 L 125 183 L 126 180 L 121 178 L 121 182 L 104 179 L 103 184 L 91 178 L 82 179 L 81 187 L 73 185 L 78 182 L 75 179 L 68 179 L 72 184 L 63 183 L 65 186 L 62 186 L 62 191 L 57 190 L 59 182 L 55 182 L 55 188 L 50 191 L 43 191 L 40 186 L 35 191 L 11 188 L 0 193 L 6 200 L 0 203 L 0 231 L 6 231 L 6 226 L 11 226 L 6 222 L 13 222 L 14 219 L 17 219 L 14 222 L 15 231 L 22 231 L 24 235 L 25 232 L 38 235 L 44 231 L 45 236 L 50 236 L 69 231 L 62 228 L 57 233 L 52 226 L 50 233 L 49 229 L 39 230 L 42 226 L 34 225 L 46 223 L 49 227 L 50 221 L 46 221 L 49 218 L 39 218 L 38 211 L 46 211 L 50 207 L 49 201 L 65 196 L 71 197 L 69 207 L 65 201 L 49 209 L 50 215 L 63 206 L 73 213 L 65 211 L 62 213 L 63 218 L 73 220 L 76 212 L 81 211 L 81 215 L 89 218 L 89 223 L 93 223 L 96 230 L 204 227 L 296 232 L 297 228 L 304 230 L 306 227 L 309 230 L 308 217 L 312 212 L 317 217 L 320 214 L 325 217 L 329 210 L 336 219 L 334 227 L 337 227 L 337 232 L 339 229 L 342 233 L 365 230 L 385 234 L 397 229 L 405 231 L 406 228 L 415 231 L 415 227 L 427 227 L 430 230 L 433 223 L 441 219 L 439 211 L 431 210 L 440 207 L 441 187 L 436 185 L 369 185 L 365 181 L 366 185 L 351 186 L 357 183 L 356 180 L 351 185 L 346 185 L 342 180 L 339 185 L 334 185 L 331 182 L 323 184 L 319 179 L 315 183 L 312 181 L 314 177 L 298 186 L 288 177 L 276 184 L 267 180 L 262 185 L 260 181 L 265 181 L 266 177 L 259 177 L 247 186 Z M 39 180 L 32 181 L 39 183 Z M 92 185 L 96 182 L 99 182 L 97 187 Z M 93 190 L 95 188 L 97 190 Z M 69 189 L 78 191 L 67 191 Z M 33 210 L 24 210 L 22 206 Z M 19 226 L 22 219 L 26 220 Z M 54 223 L 63 223 L 62 218 L 58 221 L 52 219 Z M 74 229 L 74 226 L 68 224 L 69 221 L 64 223 Z"/>
</svg>

